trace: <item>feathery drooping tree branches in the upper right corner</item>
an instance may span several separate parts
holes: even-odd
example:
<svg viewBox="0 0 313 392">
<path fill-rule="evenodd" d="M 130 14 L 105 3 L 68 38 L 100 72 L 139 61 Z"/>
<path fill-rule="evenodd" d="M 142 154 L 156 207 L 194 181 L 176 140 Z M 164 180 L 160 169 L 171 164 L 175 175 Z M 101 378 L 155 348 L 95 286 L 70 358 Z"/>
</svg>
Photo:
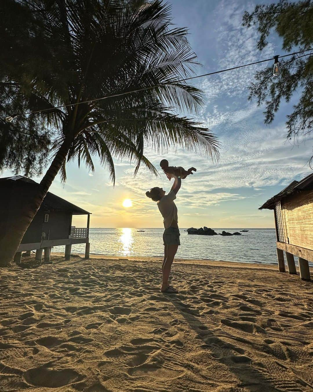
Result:
<svg viewBox="0 0 313 392">
<path fill-rule="evenodd" d="M 257 5 L 252 13 L 243 15 L 243 26 L 257 25 L 257 48 L 268 44 L 268 36 L 274 30 L 282 38 L 282 49 L 288 52 L 313 48 L 313 1 L 290 2 L 279 0 L 269 5 Z M 255 74 L 255 83 L 249 87 L 249 100 L 257 99 L 258 105 L 266 105 L 264 122 L 270 124 L 279 110 L 281 100 L 289 102 L 299 94 L 293 112 L 286 116 L 287 138 L 306 138 L 313 129 L 313 51 L 279 59 L 281 74 L 274 78 L 273 65 Z M 310 159 L 313 162 L 313 155 Z"/>
</svg>

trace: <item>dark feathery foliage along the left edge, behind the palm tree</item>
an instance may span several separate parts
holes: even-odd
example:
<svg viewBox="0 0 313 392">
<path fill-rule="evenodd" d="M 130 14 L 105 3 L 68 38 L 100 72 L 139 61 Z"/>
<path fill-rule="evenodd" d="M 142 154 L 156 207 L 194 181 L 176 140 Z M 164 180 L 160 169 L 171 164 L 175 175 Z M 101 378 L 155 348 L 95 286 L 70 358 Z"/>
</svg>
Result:
<svg viewBox="0 0 313 392">
<path fill-rule="evenodd" d="M 28 111 L 31 81 L 42 76 L 38 51 L 41 62 L 49 66 L 50 54 L 42 33 L 43 25 L 27 7 L 14 1 L 0 2 L 0 117 Z M 11 123 L 0 120 L 0 171 L 40 175 L 47 164 L 50 136 L 36 117 L 16 117 Z"/>
</svg>

